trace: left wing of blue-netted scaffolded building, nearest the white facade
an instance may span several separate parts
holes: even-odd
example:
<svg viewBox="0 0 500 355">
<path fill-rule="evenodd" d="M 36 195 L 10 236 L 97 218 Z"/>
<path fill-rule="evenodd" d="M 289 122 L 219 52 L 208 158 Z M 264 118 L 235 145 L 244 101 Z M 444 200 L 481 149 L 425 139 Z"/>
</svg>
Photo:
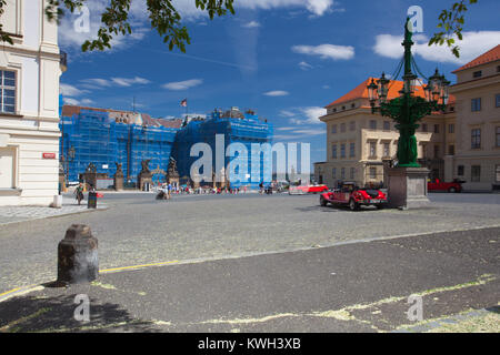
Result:
<svg viewBox="0 0 500 355">
<path fill-rule="evenodd" d="M 60 152 L 67 181 L 81 181 L 89 164 L 112 178 L 117 164 L 126 182 L 136 182 L 141 162 L 167 170 L 182 120 L 152 119 L 146 113 L 64 105 L 60 121 Z M 164 179 L 153 175 L 154 182 Z"/>
</svg>

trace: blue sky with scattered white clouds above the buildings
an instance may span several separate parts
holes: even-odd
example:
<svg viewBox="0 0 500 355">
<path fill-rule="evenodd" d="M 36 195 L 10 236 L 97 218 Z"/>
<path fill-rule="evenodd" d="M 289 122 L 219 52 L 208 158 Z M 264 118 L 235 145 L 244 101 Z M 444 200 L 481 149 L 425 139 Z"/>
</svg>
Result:
<svg viewBox="0 0 500 355">
<path fill-rule="evenodd" d="M 322 108 L 369 75 L 393 72 L 402 54 L 400 37 L 411 6 L 423 10 L 417 62 L 423 73 L 451 71 L 500 43 L 500 2 L 480 0 L 467 13 L 462 58 L 428 48 L 447 1 L 236 0 L 236 16 L 212 21 L 194 0 L 177 0 L 191 44 L 169 52 L 150 30 L 144 0 L 132 2 L 134 33 L 106 52 L 81 53 L 98 30 L 108 1 L 89 0 L 89 32 L 76 32 L 82 14 L 68 14 L 60 29 L 69 69 L 61 78 L 68 103 L 137 110 L 154 118 L 207 114 L 214 108 L 251 108 L 274 125 L 276 141 L 311 143 L 311 160 L 326 159 Z M 78 22 L 80 26 L 83 22 Z"/>
</svg>

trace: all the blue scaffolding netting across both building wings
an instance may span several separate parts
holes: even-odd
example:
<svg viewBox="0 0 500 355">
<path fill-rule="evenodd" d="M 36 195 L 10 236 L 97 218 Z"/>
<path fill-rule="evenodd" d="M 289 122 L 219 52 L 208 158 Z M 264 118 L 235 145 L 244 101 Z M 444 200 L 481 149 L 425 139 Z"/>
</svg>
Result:
<svg viewBox="0 0 500 355">
<path fill-rule="evenodd" d="M 171 156 L 177 161 L 181 179 L 187 179 L 191 176 L 191 165 L 200 158 L 191 156 L 191 148 L 207 143 L 212 151 L 212 162 L 216 162 L 216 154 L 222 154 L 231 187 L 256 189 L 261 182 L 271 182 L 271 154 L 266 154 L 270 152 L 270 144 L 264 143 L 272 142 L 272 125 L 261 122 L 252 112 L 214 111 L 208 119 L 191 120 L 182 128 L 166 128 L 122 123 L 108 110 L 81 108 L 78 113 L 61 118 L 60 130 L 60 150 L 66 158 L 69 181 L 79 181 L 90 163 L 98 173 L 112 178 L 116 163 L 120 163 L 126 181 L 137 182 L 143 160 L 150 160 L 150 170 L 167 171 Z M 217 151 L 216 138 L 223 138 L 223 152 Z M 203 181 L 208 184 L 214 171 L 201 173 L 210 176 L 202 180 L 202 184 Z M 153 174 L 154 183 L 163 181 L 163 174 Z"/>
</svg>

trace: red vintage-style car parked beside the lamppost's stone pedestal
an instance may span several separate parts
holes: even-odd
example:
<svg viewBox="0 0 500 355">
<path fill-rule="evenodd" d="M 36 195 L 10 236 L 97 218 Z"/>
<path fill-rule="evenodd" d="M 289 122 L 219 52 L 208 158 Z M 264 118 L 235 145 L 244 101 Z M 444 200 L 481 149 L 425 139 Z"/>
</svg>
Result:
<svg viewBox="0 0 500 355">
<path fill-rule="evenodd" d="M 343 183 L 340 189 L 322 193 L 320 205 L 348 205 L 351 211 L 358 211 L 362 205 L 374 205 L 382 209 L 387 205 L 387 195 L 376 189 L 360 189 L 353 183 Z"/>
</svg>

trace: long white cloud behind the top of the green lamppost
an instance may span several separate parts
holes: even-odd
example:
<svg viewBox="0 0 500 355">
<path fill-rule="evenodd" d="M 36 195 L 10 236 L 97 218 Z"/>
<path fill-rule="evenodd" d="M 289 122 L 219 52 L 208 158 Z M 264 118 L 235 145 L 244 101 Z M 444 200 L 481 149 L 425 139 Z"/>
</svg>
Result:
<svg viewBox="0 0 500 355">
<path fill-rule="evenodd" d="M 466 64 L 474 58 L 500 43 L 500 31 L 462 32 L 463 40 L 456 39 L 460 47 L 460 58 L 456 58 L 447 45 L 428 45 L 429 39 L 423 34 L 413 37 L 413 53 L 428 61 Z M 402 37 L 379 34 L 376 37 L 373 51 L 382 57 L 399 59 L 403 55 Z"/>
</svg>

